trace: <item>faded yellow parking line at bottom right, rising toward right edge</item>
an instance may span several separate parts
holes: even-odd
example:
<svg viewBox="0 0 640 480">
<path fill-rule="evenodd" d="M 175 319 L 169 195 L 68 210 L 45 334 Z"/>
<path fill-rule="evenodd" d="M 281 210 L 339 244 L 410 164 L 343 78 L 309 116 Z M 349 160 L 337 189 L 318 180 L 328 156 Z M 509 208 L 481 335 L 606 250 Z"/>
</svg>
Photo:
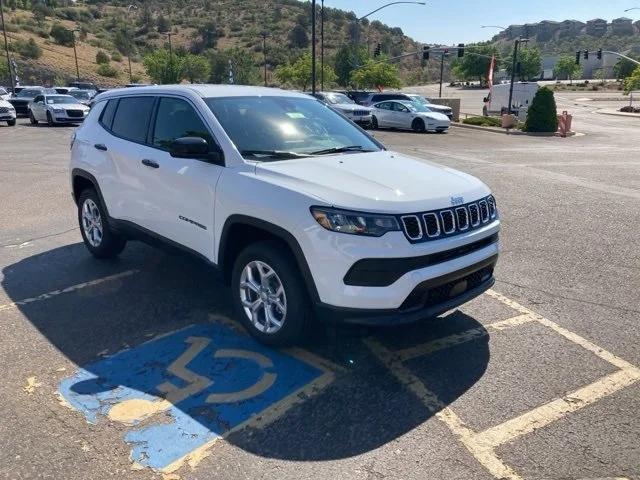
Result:
<svg viewBox="0 0 640 480">
<path fill-rule="evenodd" d="M 562 398 L 507 420 L 498 426 L 488 428 L 476 434 L 474 441 L 486 447 L 495 448 L 591 405 L 638 380 L 640 375 L 636 369 L 619 370 Z"/>
</svg>

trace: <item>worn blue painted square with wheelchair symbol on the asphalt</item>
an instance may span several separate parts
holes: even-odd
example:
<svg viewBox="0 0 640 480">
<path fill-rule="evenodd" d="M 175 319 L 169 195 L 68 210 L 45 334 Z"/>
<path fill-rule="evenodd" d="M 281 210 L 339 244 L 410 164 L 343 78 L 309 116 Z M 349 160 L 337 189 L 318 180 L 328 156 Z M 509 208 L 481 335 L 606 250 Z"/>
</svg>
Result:
<svg viewBox="0 0 640 480">
<path fill-rule="evenodd" d="M 130 425 L 132 460 L 166 469 L 325 374 L 220 324 L 195 325 L 97 361 L 60 394 L 91 423 Z"/>
</svg>

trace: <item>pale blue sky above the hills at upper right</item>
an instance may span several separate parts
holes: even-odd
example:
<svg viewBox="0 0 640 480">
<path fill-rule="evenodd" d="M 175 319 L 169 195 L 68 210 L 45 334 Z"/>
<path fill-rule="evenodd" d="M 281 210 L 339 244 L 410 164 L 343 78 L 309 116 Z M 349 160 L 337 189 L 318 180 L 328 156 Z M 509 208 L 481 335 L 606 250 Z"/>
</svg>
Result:
<svg viewBox="0 0 640 480">
<path fill-rule="evenodd" d="M 325 6 L 366 15 L 391 0 L 325 0 Z M 373 14 L 380 20 L 422 43 L 457 45 L 489 40 L 499 29 L 481 25 L 534 23 L 541 20 L 591 20 L 618 17 L 640 20 L 640 0 L 424 0 L 427 5 L 393 5 Z M 318 5 L 320 0 L 317 0 Z"/>
</svg>

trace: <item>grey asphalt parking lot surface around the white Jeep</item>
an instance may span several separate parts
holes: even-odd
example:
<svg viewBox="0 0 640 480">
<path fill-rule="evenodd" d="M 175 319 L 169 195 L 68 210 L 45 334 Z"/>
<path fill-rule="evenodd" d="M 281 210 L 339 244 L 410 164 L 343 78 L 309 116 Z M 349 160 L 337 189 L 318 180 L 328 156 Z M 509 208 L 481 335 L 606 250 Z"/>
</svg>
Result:
<svg viewBox="0 0 640 480">
<path fill-rule="evenodd" d="M 640 122 L 559 102 L 583 135 L 376 132 L 491 186 L 497 283 L 284 351 L 197 260 L 91 258 L 73 129 L 0 127 L 0 477 L 640 478 Z"/>
</svg>

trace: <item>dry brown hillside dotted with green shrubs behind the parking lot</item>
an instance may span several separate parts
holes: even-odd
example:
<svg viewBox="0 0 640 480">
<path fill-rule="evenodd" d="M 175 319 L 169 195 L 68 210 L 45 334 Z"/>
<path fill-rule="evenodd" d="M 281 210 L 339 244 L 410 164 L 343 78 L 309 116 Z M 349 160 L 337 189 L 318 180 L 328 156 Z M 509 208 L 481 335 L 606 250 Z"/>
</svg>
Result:
<svg viewBox="0 0 640 480">
<path fill-rule="evenodd" d="M 261 32 L 268 33 L 267 65 L 270 81 L 278 65 L 295 60 L 308 51 L 310 4 L 297 0 L 148 0 L 128 13 L 129 2 L 87 0 L 49 0 L 48 6 L 32 0 L 5 1 L 5 21 L 23 84 L 56 83 L 74 79 L 76 67 L 72 43 L 61 44 L 51 35 L 57 24 L 76 30 L 80 77 L 99 85 L 129 82 L 127 54 L 131 52 L 134 81 L 147 80 L 143 56 L 154 48 L 166 46 L 169 34 L 174 51 L 190 51 L 213 58 L 216 52 L 237 49 L 258 74 L 263 65 Z M 8 7 L 8 8 L 7 8 Z M 352 12 L 325 9 L 325 58 L 331 58 L 340 45 L 353 42 L 355 15 Z M 318 28 L 319 33 L 319 28 Z M 31 49 L 26 48 L 31 42 Z M 380 42 L 383 52 L 393 56 L 417 51 L 420 46 L 402 33 L 380 22 L 363 22 L 360 44 L 372 52 Z M 33 47 L 35 43 L 38 47 Z M 38 57 L 37 52 L 40 51 Z M 104 52 L 111 68 L 100 68 L 98 52 Z M 37 57 L 37 58 L 36 58 Z M 104 60 L 103 60 L 104 61 Z M 400 64 L 401 76 L 411 83 L 420 72 L 417 56 Z M 112 71 L 108 71 L 112 70 Z M 219 69 L 218 69 L 219 70 Z M 105 75 L 104 73 L 108 73 Z M 2 70 L 0 70 L 0 77 Z M 212 69 L 213 72 L 213 69 Z M 211 81 L 223 81 L 224 72 L 212 73 Z M 419 79 L 419 73 L 418 79 Z M 0 78 L 8 83 L 8 78 Z"/>
</svg>

